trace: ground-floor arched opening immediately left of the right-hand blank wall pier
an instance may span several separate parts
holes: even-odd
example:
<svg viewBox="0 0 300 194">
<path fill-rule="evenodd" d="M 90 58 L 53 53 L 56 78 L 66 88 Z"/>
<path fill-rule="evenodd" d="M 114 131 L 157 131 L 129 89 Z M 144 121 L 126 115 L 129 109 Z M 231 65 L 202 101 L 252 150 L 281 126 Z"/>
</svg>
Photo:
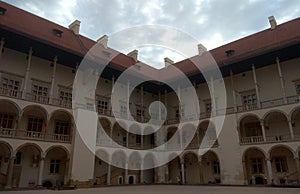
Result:
<svg viewBox="0 0 300 194">
<path fill-rule="evenodd" d="M 201 170 L 203 183 L 218 184 L 221 183 L 221 167 L 220 160 L 212 151 L 206 152 L 201 157 Z"/>
</svg>

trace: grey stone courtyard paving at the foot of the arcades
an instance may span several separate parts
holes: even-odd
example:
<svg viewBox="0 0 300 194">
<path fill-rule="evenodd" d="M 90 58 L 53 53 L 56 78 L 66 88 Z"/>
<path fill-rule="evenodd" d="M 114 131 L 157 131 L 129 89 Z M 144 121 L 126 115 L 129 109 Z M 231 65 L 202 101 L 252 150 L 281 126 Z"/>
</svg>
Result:
<svg viewBox="0 0 300 194">
<path fill-rule="evenodd" d="M 299 194 L 300 188 L 236 187 L 236 186 L 114 186 L 76 190 L 22 190 L 1 191 L 1 194 Z"/>
</svg>

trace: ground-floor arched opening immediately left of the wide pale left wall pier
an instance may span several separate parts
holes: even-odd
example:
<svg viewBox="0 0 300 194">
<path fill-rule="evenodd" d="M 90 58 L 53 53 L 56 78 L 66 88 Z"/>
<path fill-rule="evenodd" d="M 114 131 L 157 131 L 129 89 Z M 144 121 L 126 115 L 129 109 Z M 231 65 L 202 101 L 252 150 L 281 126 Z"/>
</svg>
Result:
<svg viewBox="0 0 300 194">
<path fill-rule="evenodd" d="M 43 185 L 51 182 L 53 186 L 62 186 L 68 182 L 69 154 L 61 147 L 52 147 L 47 151 L 43 171 Z"/>
</svg>

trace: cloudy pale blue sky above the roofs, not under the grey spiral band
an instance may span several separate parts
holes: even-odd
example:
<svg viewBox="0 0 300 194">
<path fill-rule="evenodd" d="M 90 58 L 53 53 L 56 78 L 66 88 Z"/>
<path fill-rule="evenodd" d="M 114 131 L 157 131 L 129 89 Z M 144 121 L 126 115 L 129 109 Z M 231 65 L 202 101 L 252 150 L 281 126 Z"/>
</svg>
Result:
<svg viewBox="0 0 300 194">
<path fill-rule="evenodd" d="M 81 21 L 80 33 L 93 40 L 104 34 L 110 36 L 124 29 L 151 24 L 178 29 L 208 49 L 268 28 L 268 17 L 271 15 L 275 16 L 278 24 L 300 16 L 299 0 L 5 0 L 5 2 L 65 27 L 78 19 Z M 137 46 L 137 49 L 139 60 L 158 68 L 164 65 L 165 57 L 174 61 L 184 58 L 177 52 L 155 45 L 140 48 Z"/>
</svg>

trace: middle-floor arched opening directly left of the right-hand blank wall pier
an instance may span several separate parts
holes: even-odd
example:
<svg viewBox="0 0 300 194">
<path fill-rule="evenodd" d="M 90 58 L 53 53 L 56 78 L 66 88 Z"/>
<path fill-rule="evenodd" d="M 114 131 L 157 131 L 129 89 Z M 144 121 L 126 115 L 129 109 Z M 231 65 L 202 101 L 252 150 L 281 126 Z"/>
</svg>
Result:
<svg viewBox="0 0 300 194">
<path fill-rule="evenodd" d="M 200 148 L 218 146 L 215 125 L 210 121 L 203 121 L 198 126 Z"/>
</svg>

